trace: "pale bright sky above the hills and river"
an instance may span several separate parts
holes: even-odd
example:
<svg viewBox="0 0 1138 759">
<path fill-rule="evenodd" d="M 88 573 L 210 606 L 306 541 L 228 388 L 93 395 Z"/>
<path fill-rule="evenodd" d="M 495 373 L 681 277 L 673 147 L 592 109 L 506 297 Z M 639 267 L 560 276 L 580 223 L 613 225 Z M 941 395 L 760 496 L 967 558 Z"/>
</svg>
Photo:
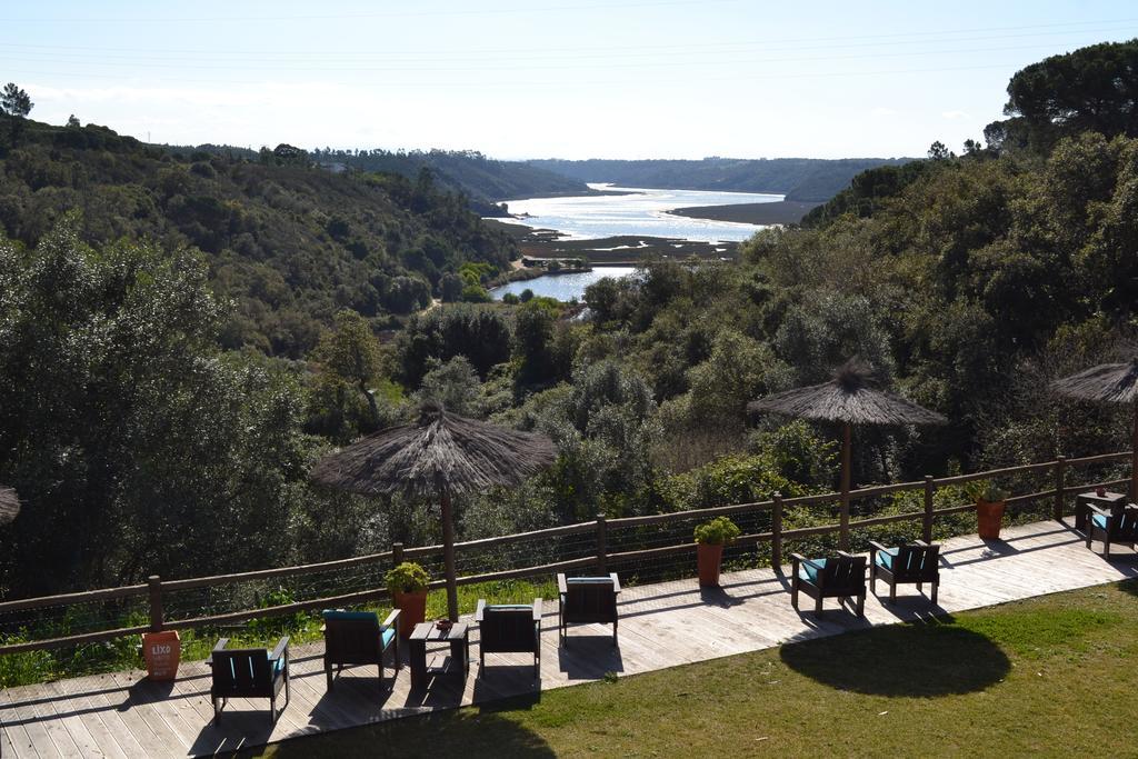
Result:
<svg viewBox="0 0 1138 759">
<path fill-rule="evenodd" d="M 922 156 L 1132 1 L 0 2 L 32 117 L 142 140 L 519 158 Z"/>
</svg>

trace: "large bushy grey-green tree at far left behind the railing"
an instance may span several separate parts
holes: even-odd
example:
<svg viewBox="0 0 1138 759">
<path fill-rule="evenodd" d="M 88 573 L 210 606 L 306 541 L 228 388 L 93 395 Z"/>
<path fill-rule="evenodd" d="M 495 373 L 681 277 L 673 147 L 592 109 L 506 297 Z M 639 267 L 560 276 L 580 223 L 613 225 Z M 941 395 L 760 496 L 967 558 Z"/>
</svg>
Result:
<svg viewBox="0 0 1138 759">
<path fill-rule="evenodd" d="M 201 261 L 90 248 L 77 225 L 34 250 L 0 241 L 0 481 L 35 511 L 0 534 L 0 584 L 40 595 L 289 555 L 279 527 L 308 455 L 295 381 L 217 350 Z"/>
</svg>

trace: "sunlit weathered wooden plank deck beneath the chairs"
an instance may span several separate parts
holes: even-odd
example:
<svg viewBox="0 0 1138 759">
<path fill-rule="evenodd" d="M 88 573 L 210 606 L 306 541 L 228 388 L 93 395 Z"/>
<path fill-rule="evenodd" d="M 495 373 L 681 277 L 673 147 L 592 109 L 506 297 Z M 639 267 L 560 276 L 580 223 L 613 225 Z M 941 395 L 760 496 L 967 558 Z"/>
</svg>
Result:
<svg viewBox="0 0 1138 759">
<path fill-rule="evenodd" d="M 834 601 L 827 601 L 820 617 L 806 611 L 809 599 L 803 600 L 803 612 L 795 612 L 787 578 L 770 569 L 725 575 L 723 588 L 712 592 L 700 591 L 694 579 L 625 588 L 619 649 L 610 644 L 607 630 L 611 628 L 602 627 L 571 628 L 570 646 L 559 649 L 556 604 L 547 604 L 537 683 L 531 678 L 533 660 L 525 655 L 493 654 L 480 673 L 477 629 L 471 633 L 470 677 L 462 687 L 436 679 L 413 691 L 410 673 L 403 669 L 394 690 L 381 692 L 376 668 L 360 667 L 345 669 L 329 693 L 322 645 L 296 646 L 291 702 L 274 726 L 265 700 L 231 702 L 221 727 L 214 727 L 209 677 L 201 662 L 183 665 L 178 682 L 166 685 L 149 683 L 133 670 L 10 688 L 0 692 L 0 756 L 211 756 L 422 711 L 536 694 L 599 679 L 608 671 L 634 675 L 869 625 L 1138 577 L 1138 560 L 1127 548 L 1118 548 L 1111 562 L 1103 561 L 1086 550 L 1078 533 L 1058 522 L 1005 529 L 1004 537 L 989 544 L 975 536 L 945 543 L 937 608 L 908 586 L 899 588 L 898 604 L 892 608 L 871 595 L 864 620 L 839 609 Z"/>
</svg>

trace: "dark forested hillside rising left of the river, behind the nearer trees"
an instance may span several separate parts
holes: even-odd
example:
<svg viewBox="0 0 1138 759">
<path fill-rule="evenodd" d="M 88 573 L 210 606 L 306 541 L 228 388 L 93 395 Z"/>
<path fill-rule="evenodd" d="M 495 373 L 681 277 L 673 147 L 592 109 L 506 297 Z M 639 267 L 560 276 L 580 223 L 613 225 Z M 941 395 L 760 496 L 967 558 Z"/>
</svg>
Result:
<svg viewBox="0 0 1138 759">
<path fill-rule="evenodd" d="M 517 257 L 427 175 L 337 175 L 288 146 L 250 160 L 27 122 L 0 150 L 0 229 L 35 246 L 69 213 L 86 244 L 197 248 L 218 296 L 238 304 L 222 344 L 292 357 L 341 308 L 387 324 L 442 296 L 464 263 L 489 277 Z"/>
</svg>

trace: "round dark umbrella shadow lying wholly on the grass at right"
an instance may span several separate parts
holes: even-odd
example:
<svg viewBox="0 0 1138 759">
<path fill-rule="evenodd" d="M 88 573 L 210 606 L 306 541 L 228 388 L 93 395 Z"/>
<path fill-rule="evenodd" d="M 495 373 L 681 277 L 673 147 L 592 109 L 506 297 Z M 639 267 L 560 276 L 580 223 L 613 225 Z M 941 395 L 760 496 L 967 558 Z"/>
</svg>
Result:
<svg viewBox="0 0 1138 759">
<path fill-rule="evenodd" d="M 841 691 L 927 698 L 974 693 L 1004 679 L 1012 662 L 989 637 L 945 625 L 889 625 L 784 645 L 787 667 Z"/>
</svg>

